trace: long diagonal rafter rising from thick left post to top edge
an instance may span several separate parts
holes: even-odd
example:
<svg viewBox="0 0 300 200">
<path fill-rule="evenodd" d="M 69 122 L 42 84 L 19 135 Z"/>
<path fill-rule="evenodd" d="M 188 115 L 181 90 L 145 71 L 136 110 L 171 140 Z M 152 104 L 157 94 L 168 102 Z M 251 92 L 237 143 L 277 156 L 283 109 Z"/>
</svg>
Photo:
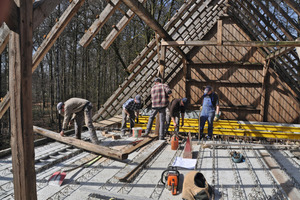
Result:
<svg viewBox="0 0 300 200">
<path fill-rule="evenodd" d="M 58 22 L 52 27 L 51 31 L 48 33 L 46 39 L 42 42 L 41 46 L 33 55 L 32 72 L 38 67 L 40 62 L 43 60 L 46 53 L 53 46 L 57 38 L 60 36 L 62 31 L 71 21 L 72 17 L 77 13 L 79 8 L 84 3 L 84 0 L 73 0 L 62 16 L 59 18 Z"/>
</svg>

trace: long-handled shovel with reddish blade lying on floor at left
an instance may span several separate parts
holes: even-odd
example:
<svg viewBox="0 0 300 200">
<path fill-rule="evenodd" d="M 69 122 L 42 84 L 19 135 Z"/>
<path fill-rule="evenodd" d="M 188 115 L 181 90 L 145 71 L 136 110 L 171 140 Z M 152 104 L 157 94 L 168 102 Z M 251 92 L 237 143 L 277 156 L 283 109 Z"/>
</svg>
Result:
<svg viewBox="0 0 300 200">
<path fill-rule="evenodd" d="M 61 186 L 61 184 L 63 183 L 63 181 L 64 181 L 64 179 L 67 175 L 67 172 L 73 171 L 73 170 L 78 169 L 82 166 L 83 166 L 83 168 L 89 167 L 92 164 L 94 164 L 95 162 L 97 162 L 101 157 L 102 156 L 97 156 L 97 157 L 95 157 L 91 160 L 88 160 L 87 162 L 84 162 L 84 163 L 82 163 L 82 164 L 80 164 L 76 167 L 73 167 L 73 168 L 65 170 L 65 171 L 54 172 L 48 180 L 49 185 L 59 185 L 59 186 Z"/>
</svg>

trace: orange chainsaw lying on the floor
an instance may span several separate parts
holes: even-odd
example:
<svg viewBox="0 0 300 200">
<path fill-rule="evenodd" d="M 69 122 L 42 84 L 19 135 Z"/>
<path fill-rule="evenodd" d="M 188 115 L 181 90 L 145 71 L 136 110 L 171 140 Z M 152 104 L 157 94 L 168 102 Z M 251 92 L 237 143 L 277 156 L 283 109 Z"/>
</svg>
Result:
<svg viewBox="0 0 300 200">
<path fill-rule="evenodd" d="M 169 166 L 168 169 L 161 174 L 161 182 L 168 190 L 171 190 L 173 195 L 176 195 L 178 192 L 179 175 L 180 173 L 177 170 L 177 167 L 173 166 Z"/>
</svg>

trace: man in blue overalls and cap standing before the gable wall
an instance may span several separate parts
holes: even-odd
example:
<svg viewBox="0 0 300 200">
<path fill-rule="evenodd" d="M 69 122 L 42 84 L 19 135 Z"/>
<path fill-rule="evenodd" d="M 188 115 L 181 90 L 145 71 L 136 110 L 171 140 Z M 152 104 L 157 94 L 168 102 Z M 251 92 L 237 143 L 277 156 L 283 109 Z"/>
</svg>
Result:
<svg viewBox="0 0 300 200">
<path fill-rule="evenodd" d="M 215 113 L 216 117 L 219 118 L 219 97 L 213 92 L 211 86 L 206 86 L 204 90 L 204 95 L 202 96 L 202 110 L 200 113 L 200 139 L 204 137 L 203 130 L 205 122 L 208 123 L 208 136 L 206 137 L 208 140 L 213 136 L 213 122 Z"/>
</svg>

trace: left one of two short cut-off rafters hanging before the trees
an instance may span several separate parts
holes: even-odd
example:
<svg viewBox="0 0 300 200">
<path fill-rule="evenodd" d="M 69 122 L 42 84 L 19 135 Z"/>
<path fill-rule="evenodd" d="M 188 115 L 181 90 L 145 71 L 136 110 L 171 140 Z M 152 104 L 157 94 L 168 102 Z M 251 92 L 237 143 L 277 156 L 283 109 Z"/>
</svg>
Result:
<svg viewBox="0 0 300 200">
<path fill-rule="evenodd" d="M 95 35 L 100 31 L 103 25 L 114 14 L 116 9 L 120 6 L 121 0 L 111 0 L 101 12 L 100 16 L 94 21 L 92 26 L 86 31 L 83 37 L 80 39 L 79 44 L 83 47 L 87 47 Z"/>
</svg>

